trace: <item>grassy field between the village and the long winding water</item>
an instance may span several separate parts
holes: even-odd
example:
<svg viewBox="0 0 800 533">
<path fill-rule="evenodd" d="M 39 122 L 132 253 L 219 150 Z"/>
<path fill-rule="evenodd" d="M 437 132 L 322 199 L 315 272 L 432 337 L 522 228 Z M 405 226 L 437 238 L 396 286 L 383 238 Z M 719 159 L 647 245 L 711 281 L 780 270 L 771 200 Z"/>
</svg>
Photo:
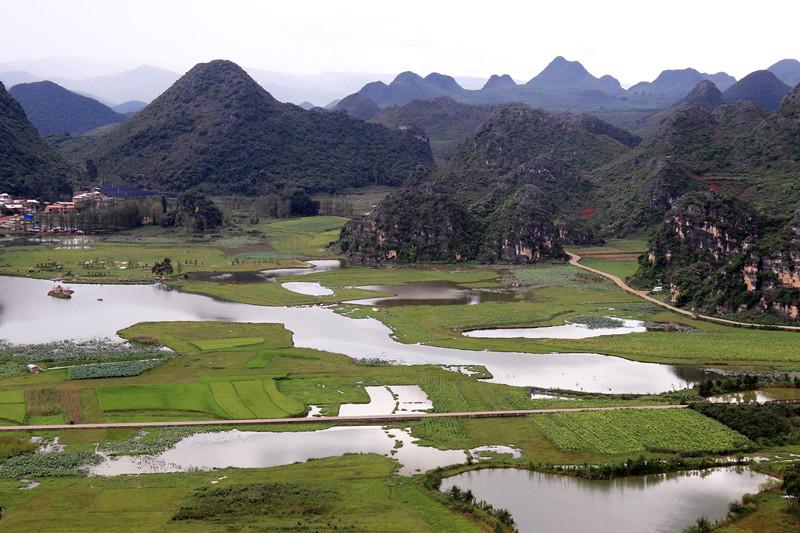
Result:
<svg viewBox="0 0 800 533">
<path fill-rule="evenodd" d="M 80 282 L 144 282 L 165 257 L 175 275 L 189 272 L 255 271 L 298 266 L 298 259 L 324 257 L 346 219 L 307 217 L 267 220 L 238 232 L 223 229 L 192 235 L 145 226 L 86 243 L 10 245 L 0 248 L 0 274 L 61 276 Z"/>
</svg>

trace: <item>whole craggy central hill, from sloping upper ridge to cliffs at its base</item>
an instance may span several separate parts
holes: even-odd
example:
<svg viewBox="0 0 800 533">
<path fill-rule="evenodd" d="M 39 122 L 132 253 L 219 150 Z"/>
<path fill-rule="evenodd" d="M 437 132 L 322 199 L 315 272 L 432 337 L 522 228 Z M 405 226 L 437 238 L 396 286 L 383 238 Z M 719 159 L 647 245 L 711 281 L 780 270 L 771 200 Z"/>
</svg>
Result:
<svg viewBox="0 0 800 533">
<path fill-rule="evenodd" d="M 561 258 L 562 242 L 594 240 L 579 215 L 591 190 L 583 174 L 629 150 L 617 133 L 597 119 L 501 108 L 431 181 L 351 221 L 342 250 L 370 261 Z"/>
</svg>

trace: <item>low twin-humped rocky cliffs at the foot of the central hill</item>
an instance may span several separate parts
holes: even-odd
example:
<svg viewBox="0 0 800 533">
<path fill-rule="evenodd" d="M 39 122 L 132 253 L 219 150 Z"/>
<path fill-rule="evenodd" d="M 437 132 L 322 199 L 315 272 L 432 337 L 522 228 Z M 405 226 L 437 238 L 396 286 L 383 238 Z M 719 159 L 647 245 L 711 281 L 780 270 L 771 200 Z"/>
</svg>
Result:
<svg viewBox="0 0 800 533">
<path fill-rule="evenodd" d="M 541 207 L 541 191 L 518 191 L 487 216 L 430 189 L 393 193 L 342 230 L 342 252 L 357 262 L 534 263 L 563 259 L 565 232 Z"/>
</svg>

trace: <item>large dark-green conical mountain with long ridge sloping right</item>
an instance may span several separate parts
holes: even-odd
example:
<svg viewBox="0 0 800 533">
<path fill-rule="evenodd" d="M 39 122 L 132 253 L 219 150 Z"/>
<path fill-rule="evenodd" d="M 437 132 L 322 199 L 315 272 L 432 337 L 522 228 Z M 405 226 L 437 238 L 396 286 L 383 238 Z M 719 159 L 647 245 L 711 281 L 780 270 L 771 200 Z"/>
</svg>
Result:
<svg viewBox="0 0 800 533">
<path fill-rule="evenodd" d="M 245 194 L 398 185 L 433 168 L 424 139 L 278 102 L 229 61 L 195 66 L 86 156 L 104 177 L 158 190 Z"/>
</svg>

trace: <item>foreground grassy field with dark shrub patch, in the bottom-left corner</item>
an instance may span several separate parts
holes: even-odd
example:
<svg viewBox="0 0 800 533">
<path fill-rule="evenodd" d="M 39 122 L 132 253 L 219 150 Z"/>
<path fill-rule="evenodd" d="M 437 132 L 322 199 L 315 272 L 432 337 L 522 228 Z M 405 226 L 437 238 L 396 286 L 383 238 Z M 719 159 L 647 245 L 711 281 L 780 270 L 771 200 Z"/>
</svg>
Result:
<svg viewBox="0 0 800 533">
<path fill-rule="evenodd" d="M 4 479 L 2 522 L 4 529 L 20 532 L 53 530 L 56 524 L 62 531 L 486 531 L 419 484 L 391 476 L 394 465 L 355 455 L 265 470 L 49 478 L 28 491 Z M 270 484 L 283 497 L 275 501 L 243 490 L 256 484 Z M 204 504 L 209 491 L 218 496 L 212 493 Z M 241 492 L 250 497 L 230 498 Z M 174 520 L 176 515 L 184 519 Z"/>
</svg>

